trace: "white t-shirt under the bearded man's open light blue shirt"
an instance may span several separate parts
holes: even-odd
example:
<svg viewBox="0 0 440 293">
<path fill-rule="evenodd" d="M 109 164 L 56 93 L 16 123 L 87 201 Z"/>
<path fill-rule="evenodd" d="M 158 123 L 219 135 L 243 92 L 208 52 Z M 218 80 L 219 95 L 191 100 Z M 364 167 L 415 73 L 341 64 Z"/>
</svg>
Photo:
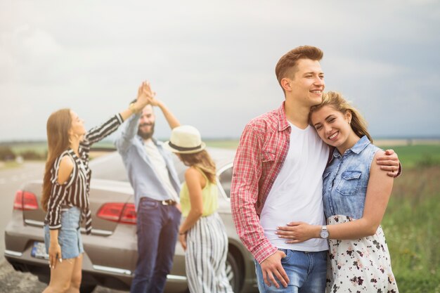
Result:
<svg viewBox="0 0 440 293">
<path fill-rule="evenodd" d="M 164 188 L 168 191 L 169 196 L 172 197 L 172 200 L 179 202 L 179 196 L 169 180 L 167 163 L 165 163 L 164 158 L 160 155 L 159 150 L 157 150 L 157 146 L 151 138 L 143 141 L 143 143 L 145 144 L 145 151 L 153 164 L 153 169 L 155 170 L 157 177 L 164 185 Z"/>
</svg>

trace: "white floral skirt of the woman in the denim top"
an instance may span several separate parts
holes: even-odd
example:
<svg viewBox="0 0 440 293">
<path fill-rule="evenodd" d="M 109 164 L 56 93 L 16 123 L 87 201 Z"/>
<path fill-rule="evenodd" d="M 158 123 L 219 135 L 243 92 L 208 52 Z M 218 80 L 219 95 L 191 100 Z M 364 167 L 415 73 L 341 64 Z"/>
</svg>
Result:
<svg viewBox="0 0 440 293">
<path fill-rule="evenodd" d="M 330 216 L 327 224 L 354 221 L 349 216 Z M 391 268 L 384 231 L 357 240 L 329 240 L 326 292 L 399 292 Z"/>
</svg>

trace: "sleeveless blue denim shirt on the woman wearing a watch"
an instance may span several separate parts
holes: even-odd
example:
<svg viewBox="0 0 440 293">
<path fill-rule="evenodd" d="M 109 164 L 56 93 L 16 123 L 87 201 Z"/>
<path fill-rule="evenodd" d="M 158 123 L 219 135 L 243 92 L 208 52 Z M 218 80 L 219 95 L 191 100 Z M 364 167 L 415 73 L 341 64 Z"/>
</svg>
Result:
<svg viewBox="0 0 440 293">
<path fill-rule="evenodd" d="M 361 219 L 365 206 L 370 166 L 377 146 L 363 136 L 344 155 L 335 149 L 323 174 L 325 217 L 334 215 Z"/>
</svg>

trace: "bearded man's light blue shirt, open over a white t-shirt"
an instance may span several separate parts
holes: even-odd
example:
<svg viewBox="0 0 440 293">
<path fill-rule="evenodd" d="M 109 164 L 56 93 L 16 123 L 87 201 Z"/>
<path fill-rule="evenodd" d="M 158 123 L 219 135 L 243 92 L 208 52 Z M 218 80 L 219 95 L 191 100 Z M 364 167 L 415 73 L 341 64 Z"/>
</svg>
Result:
<svg viewBox="0 0 440 293">
<path fill-rule="evenodd" d="M 134 189 L 134 204 L 136 211 L 141 197 L 150 197 L 153 200 L 172 200 L 164 188 L 162 181 L 154 171 L 153 164 L 145 150 L 141 136 L 137 135 L 138 122 L 141 114 L 131 115 L 127 119 L 126 126 L 121 136 L 115 142 L 119 154 L 122 156 L 125 168 L 127 169 L 129 181 Z M 161 141 L 153 142 L 157 146 L 160 155 L 167 165 L 169 181 L 171 181 L 176 193 L 180 193 L 180 181 L 172 162 L 172 153 L 163 148 Z"/>
</svg>

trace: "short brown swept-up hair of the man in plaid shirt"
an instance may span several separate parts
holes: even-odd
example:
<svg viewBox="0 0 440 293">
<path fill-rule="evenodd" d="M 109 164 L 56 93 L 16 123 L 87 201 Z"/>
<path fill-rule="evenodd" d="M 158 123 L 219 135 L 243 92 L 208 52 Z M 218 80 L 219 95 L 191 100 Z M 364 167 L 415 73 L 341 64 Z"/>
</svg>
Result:
<svg viewBox="0 0 440 293">
<path fill-rule="evenodd" d="M 275 74 L 278 83 L 281 85 L 281 79 L 285 77 L 293 77 L 299 59 L 320 61 L 323 58 L 323 55 L 324 53 L 320 48 L 313 46 L 299 46 L 288 51 L 280 58 L 280 60 L 278 60 L 278 63 L 276 63 Z"/>
</svg>

